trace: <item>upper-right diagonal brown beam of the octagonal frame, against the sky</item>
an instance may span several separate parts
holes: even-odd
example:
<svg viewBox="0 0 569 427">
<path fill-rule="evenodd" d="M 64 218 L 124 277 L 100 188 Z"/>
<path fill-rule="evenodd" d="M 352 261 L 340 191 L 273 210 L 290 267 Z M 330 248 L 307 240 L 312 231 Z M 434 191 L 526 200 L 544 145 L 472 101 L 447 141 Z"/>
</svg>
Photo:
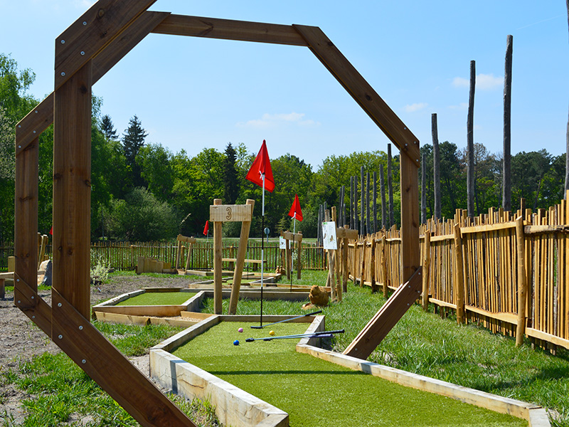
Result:
<svg viewBox="0 0 569 427">
<path fill-rule="evenodd" d="M 390 109 L 371 85 L 358 73 L 349 60 L 339 51 L 322 30 L 315 26 L 293 25 L 307 41 L 309 49 L 324 64 L 339 83 L 348 91 L 371 120 L 393 141 L 400 152 L 420 165 L 419 139 Z"/>
</svg>

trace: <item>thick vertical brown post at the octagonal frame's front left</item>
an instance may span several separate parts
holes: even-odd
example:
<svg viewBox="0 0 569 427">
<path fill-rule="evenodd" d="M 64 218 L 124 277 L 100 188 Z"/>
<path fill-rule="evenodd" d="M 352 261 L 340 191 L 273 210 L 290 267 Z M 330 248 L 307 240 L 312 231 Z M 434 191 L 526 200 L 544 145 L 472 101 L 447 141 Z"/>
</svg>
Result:
<svg viewBox="0 0 569 427">
<path fill-rule="evenodd" d="M 89 60 L 55 90 L 53 290 L 91 315 L 91 85 Z M 37 263 L 37 260 L 35 260 Z"/>
</svg>

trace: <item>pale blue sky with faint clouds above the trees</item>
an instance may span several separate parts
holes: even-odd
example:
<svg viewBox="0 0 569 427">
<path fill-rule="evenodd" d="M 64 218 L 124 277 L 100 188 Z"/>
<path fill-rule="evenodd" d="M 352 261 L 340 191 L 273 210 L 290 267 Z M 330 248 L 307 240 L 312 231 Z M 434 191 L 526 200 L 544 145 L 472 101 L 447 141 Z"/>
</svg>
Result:
<svg viewBox="0 0 569 427">
<path fill-rule="evenodd" d="M 0 52 L 53 90 L 55 38 L 93 1 L 0 0 Z M 319 26 L 420 139 L 466 145 L 469 64 L 474 141 L 502 150 L 506 36 L 514 36 L 512 152 L 565 152 L 569 31 L 563 0 L 156 1 L 151 10 Z M 228 142 L 317 169 L 331 154 L 388 139 L 307 48 L 151 34 L 93 87 L 119 134 L 137 115 L 147 142 L 193 156 Z"/>
</svg>

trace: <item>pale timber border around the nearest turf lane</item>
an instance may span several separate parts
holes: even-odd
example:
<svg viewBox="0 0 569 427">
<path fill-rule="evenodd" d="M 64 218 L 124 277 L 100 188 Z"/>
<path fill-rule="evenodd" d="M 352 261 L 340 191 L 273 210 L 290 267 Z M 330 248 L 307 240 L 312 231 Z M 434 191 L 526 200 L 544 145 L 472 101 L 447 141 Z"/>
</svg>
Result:
<svg viewBox="0 0 569 427">
<path fill-rule="evenodd" d="M 310 321 L 309 317 L 304 319 L 307 322 Z M 188 399 L 197 397 L 201 400 L 208 400 L 216 407 L 216 414 L 220 422 L 226 426 L 289 426 L 289 416 L 285 411 L 171 354 L 177 347 L 186 344 L 193 337 L 222 321 L 247 322 L 255 320 L 258 321 L 258 316 L 213 315 L 166 339 L 150 349 L 151 378 L 161 386 L 171 389 L 176 394 L 186 396 Z M 324 316 L 314 317 L 307 329 L 307 333 L 320 331 L 324 331 Z M 296 350 L 343 367 L 387 379 L 402 386 L 447 396 L 490 411 L 523 418 L 528 421 L 530 427 L 551 427 L 547 411 L 541 406 L 367 362 L 356 357 L 345 356 L 315 347 L 317 342 L 317 338 L 299 339 Z"/>
</svg>

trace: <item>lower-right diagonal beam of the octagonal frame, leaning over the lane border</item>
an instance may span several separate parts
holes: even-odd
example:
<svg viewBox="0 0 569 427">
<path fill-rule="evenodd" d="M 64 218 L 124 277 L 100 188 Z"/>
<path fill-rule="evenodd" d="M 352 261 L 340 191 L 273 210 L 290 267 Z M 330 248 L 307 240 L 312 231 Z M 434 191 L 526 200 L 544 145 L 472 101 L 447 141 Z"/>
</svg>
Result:
<svg viewBox="0 0 569 427">
<path fill-rule="evenodd" d="M 409 310 L 413 302 L 418 299 L 421 293 L 421 285 L 421 268 L 418 268 L 407 283 L 393 292 L 389 300 L 371 318 L 343 354 L 367 359 L 405 312 Z"/>
</svg>

